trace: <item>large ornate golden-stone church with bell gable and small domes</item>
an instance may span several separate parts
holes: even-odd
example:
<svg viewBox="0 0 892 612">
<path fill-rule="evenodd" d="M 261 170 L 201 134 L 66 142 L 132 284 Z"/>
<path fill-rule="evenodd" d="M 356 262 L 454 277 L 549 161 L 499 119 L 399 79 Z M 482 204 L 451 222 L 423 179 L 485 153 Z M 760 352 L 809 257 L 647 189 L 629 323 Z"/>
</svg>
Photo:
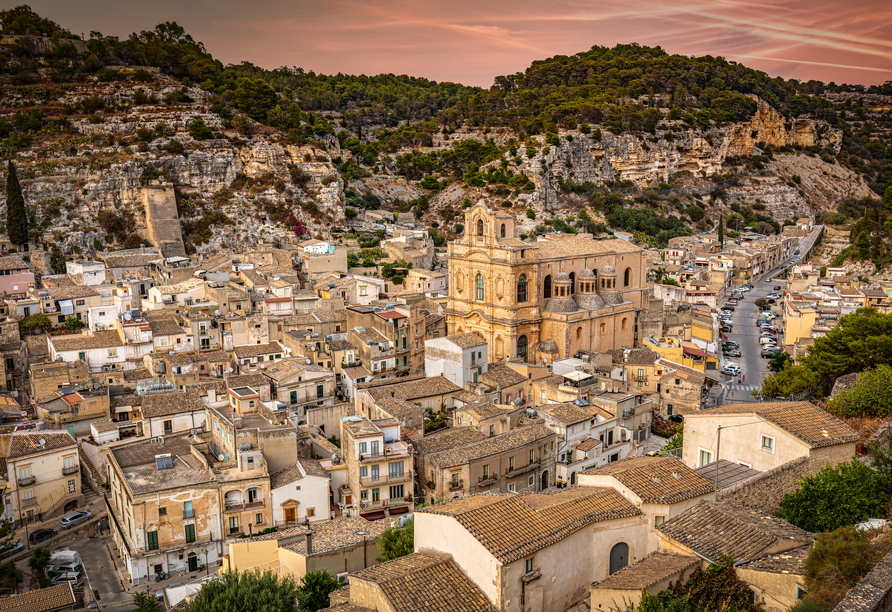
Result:
<svg viewBox="0 0 892 612">
<path fill-rule="evenodd" d="M 528 243 L 514 218 L 477 204 L 449 244 L 447 332 L 476 332 L 490 359 L 551 363 L 632 348 L 646 261 L 625 240 L 588 234 Z"/>
</svg>

